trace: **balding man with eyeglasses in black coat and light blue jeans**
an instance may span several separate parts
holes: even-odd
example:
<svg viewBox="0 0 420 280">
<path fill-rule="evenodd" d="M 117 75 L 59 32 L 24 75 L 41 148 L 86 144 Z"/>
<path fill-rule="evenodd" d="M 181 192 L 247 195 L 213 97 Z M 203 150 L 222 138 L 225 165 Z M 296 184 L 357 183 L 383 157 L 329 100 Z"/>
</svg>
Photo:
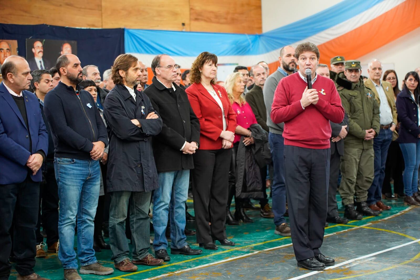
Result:
<svg viewBox="0 0 420 280">
<path fill-rule="evenodd" d="M 155 77 L 144 93 L 162 118 L 162 131 L 153 140 L 153 154 L 159 177 L 159 188 L 153 196 L 153 248 L 157 259 L 168 262 L 168 240 L 165 237 L 170 216 L 171 254 L 197 255 L 202 250 L 186 243 L 185 202 L 189 170 L 194 168 L 192 154 L 198 149 L 200 124 L 189 104 L 186 92 L 179 87 L 179 65 L 166 54 L 152 61 Z M 171 159 L 171 160 L 168 160 Z"/>
</svg>

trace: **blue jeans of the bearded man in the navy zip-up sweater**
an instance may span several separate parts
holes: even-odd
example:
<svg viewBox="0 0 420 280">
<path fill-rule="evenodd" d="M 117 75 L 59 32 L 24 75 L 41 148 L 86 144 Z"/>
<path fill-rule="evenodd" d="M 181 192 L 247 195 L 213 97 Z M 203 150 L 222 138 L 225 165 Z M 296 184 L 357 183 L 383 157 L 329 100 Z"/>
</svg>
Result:
<svg viewBox="0 0 420 280">
<path fill-rule="evenodd" d="M 97 262 L 93 250 L 93 220 L 99 198 L 100 167 L 94 160 L 54 158 L 60 213 L 58 259 L 64 269 L 77 269 L 74 228 L 77 215 L 77 255 L 80 265 Z"/>
</svg>

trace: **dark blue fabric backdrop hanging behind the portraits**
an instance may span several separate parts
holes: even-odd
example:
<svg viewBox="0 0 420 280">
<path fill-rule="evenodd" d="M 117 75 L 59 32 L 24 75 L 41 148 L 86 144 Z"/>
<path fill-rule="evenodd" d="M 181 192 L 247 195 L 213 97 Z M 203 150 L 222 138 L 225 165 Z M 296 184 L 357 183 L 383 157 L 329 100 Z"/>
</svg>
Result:
<svg viewBox="0 0 420 280">
<path fill-rule="evenodd" d="M 47 24 L 0 24 L 0 39 L 17 40 L 19 55 L 26 56 L 26 39 L 77 41 L 77 56 L 81 65 L 94 64 L 102 73 L 109 69 L 115 57 L 124 53 L 124 29 L 82 29 Z M 55 65 L 55 62 L 53 62 Z"/>
</svg>

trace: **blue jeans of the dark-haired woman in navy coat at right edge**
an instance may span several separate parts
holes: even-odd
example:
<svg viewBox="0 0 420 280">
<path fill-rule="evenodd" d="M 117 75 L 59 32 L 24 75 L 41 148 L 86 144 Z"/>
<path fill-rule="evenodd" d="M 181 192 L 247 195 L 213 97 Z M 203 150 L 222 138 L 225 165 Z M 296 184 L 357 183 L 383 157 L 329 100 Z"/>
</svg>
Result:
<svg viewBox="0 0 420 280">
<path fill-rule="evenodd" d="M 404 193 L 412 196 L 417 192 L 417 179 L 420 165 L 420 140 L 417 143 L 399 143 L 399 147 L 404 157 L 404 173 L 402 181 L 404 182 Z"/>
</svg>

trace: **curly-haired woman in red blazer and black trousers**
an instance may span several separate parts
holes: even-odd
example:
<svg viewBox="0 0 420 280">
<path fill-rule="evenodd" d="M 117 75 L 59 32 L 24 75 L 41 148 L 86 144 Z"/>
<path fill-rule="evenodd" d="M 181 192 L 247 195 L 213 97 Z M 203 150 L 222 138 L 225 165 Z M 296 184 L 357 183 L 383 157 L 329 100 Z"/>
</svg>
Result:
<svg viewBox="0 0 420 280">
<path fill-rule="evenodd" d="M 210 250 L 218 249 L 215 240 L 235 245 L 226 237 L 225 221 L 236 114 L 226 90 L 215 84 L 216 74 L 217 56 L 202 52 L 191 67 L 193 84 L 185 90 L 200 122 L 200 146 L 192 170 L 197 243 Z"/>
</svg>

